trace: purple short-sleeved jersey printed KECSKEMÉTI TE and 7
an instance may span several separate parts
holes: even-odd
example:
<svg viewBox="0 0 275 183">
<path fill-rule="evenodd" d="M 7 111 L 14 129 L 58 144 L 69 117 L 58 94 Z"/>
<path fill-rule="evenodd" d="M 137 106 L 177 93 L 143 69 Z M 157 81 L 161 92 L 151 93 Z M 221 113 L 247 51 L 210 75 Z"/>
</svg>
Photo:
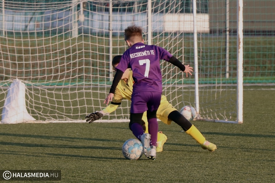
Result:
<svg viewBox="0 0 275 183">
<path fill-rule="evenodd" d="M 172 54 L 156 45 L 136 43 L 123 53 L 116 67 L 121 71 L 133 70 L 133 93 L 142 91 L 162 92 L 160 60 L 169 61 Z"/>
</svg>

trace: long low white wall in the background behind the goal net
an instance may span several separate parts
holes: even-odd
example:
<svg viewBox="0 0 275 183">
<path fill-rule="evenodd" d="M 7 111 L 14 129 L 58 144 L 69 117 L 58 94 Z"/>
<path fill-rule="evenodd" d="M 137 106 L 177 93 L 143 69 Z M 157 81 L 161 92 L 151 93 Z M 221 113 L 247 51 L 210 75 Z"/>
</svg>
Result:
<svg viewBox="0 0 275 183">
<path fill-rule="evenodd" d="M 60 32 L 70 31 L 72 29 L 72 17 L 69 10 L 65 11 L 46 11 L 44 14 L 35 14 L 31 12 L 15 12 L 5 10 L 5 31 L 50 31 L 58 30 Z M 197 14 L 198 33 L 209 33 L 209 15 Z M 124 32 L 125 27 L 137 24 L 147 27 L 147 14 L 117 13 L 112 15 L 113 33 Z M 89 12 L 84 11 L 84 22 L 78 22 L 79 30 L 83 33 L 108 33 L 109 15 L 108 12 Z M 3 30 L 3 15 L 0 14 L 0 31 Z M 152 15 L 153 32 L 193 32 L 193 15 L 190 13 L 181 14 L 153 14 Z"/>
</svg>

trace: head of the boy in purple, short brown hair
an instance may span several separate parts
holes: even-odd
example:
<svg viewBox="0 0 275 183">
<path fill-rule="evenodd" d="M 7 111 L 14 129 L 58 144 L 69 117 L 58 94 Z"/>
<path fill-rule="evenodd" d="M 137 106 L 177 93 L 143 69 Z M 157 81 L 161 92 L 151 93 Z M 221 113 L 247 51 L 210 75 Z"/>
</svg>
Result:
<svg viewBox="0 0 275 183">
<path fill-rule="evenodd" d="M 124 30 L 124 39 L 128 45 L 128 48 L 131 48 L 136 43 L 144 43 L 142 39 L 142 27 L 137 25 L 130 25 Z"/>
</svg>

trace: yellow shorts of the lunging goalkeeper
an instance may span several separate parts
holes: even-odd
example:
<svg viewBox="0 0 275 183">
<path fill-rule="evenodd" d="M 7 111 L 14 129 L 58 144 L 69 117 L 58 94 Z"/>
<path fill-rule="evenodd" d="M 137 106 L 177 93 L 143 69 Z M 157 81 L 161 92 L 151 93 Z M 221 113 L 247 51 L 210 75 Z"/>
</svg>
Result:
<svg viewBox="0 0 275 183">
<path fill-rule="evenodd" d="M 163 123 L 165 124 L 171 124 L 172 120 L 168 119 L 168 115 L 172 112 L 175 111 L 177 109 L 175 109 L 172 104 L 170 104 L 167 99 L 166 96 L 161 95 L 161 101 L 160 101 L 160 106 L 159 109 L 157 110 L 157 118 L 160 119 Z M 146 116 L 146 112 L 143 114 L 142 120 L 145 121 L 145 125 L 146 125 L 146 133 L 148 133 L 148 121 L 147 121 L 147 116 Z"/>
</svg>

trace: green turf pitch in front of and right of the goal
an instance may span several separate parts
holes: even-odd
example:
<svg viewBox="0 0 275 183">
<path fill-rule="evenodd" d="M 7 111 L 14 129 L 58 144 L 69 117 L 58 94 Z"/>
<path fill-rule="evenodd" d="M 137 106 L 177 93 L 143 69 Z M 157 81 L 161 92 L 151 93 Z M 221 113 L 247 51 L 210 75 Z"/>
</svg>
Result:
<svg viewBox="0 0 275 183">
<path fill-rule="evenodd" d="M 1 169 L 61 170 L 53 182 L 66 183 L 274 182 L 274 96 L 274 86 L 244 87 L 243 124 L 193 121 L 215 152 L 160 122 L 168 140 L 155 161 L 123 157 L 123 143 L 134 138 L 128 123 L 1 124 Z"/>
</svg>

